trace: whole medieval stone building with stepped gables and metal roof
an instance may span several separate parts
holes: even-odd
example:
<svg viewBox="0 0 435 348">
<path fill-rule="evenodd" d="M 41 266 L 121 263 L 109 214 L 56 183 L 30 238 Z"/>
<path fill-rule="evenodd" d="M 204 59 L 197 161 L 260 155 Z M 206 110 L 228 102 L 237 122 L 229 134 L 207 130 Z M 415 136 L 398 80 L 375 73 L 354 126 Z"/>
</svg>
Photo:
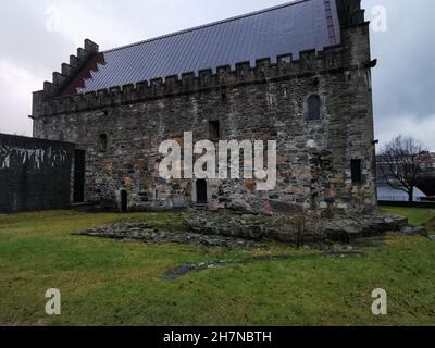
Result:
<svg viewBox="0 0 435 348">
<path fill-rule="evenodd" d="M 34 94 L 34 136 L 75 144 L 75 201 L 368 213 L 374 63 L 360 0 L 296 1 L 104 52 L 86 40 Z M 159 146 L 185 132 L 276 140 L 275 189 L 163 179 Z"/>
</svg>

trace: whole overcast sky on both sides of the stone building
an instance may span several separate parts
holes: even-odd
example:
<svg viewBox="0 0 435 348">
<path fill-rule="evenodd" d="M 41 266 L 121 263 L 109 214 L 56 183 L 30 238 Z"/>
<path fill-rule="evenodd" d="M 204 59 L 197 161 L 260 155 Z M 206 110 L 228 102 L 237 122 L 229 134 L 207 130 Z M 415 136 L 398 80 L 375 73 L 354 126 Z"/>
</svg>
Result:
<svg viewBox="0 0 435 348">
<path fill-rule="evenodd" d="M 101 50 L 140 41 L 285 0 L 14 0 L 0 12 L 0 132 L 32 136 L 32 91 L 51 80 L 85 38 Z M 411 135 L 435 150 L 435 1 L 363 0 L 387 10 L 373 32 L 376 137 Z M 384 24 L 384 23 L 382 23 Z"/>
</svg>

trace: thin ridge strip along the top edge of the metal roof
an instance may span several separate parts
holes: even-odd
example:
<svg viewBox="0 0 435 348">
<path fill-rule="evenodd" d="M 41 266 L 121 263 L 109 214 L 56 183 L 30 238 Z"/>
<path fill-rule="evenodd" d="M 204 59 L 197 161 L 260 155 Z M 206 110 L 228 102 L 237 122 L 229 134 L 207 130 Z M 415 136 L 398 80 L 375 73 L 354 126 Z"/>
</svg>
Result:
<svg viewBox="0 0 435 348">
<path fill-rule="evenodd" d="M 215 26 L 215 25 L 220 25 L 220 24 L 224 24 L 224 23 L 228 23 L 228 22 L 234 22 L 234 21 L 237 21 L 237 20 L 241 20 L 241 18 L 259 15 L 259 14 L 262 14 L 262 13 L 279 10 L 279 9 L 291 7 L 291 5 L 295 5 L 295 4 L 300 4 L 300 3 L 307 2 L 307 1 L 312 1 L 312 0 L 294 0 L 294 1 L 290 1 L 290 2 L 282 3 L 282 4 L 278 4 L 278 5 L 275 5 L 275 7 L 271 7 L 271 8 L 266 8 L 266 9 L 263 9 L 263 10 L 253 11 L 253 12 L 249 12 L 249 13 L 246 13 L 246 14 L 237 15 L 237 16 L 234 16 L 234 17 L 229 17 L 229 18 L 225 18 L 225 20 L 221 20 L 221 21 L 216 21 L 216 22 L 212 22 L 212 23 L 195 26 L 195 27 L 191 27 L 191 28 L 187 28 L 187 29 L 183 29 L 183 30 L 178 30 L 178 32 L 161 35 L 161 36 L 158 36 L 158 37 L 154 37 L 154 38 L 151 38 L 151 39 L 147 39 L 147 40 L 142 40 L 142 41 L 125 45 L 125 46 L 120 46 L 120 47 L 116 47 L 116 48 L 113 48 L 113 49 L 109 49 L 109 50 L 102 51 L 101 53 L 113 52 L 113 51 L 117 51 L 117 50 L 122 50 L 122 49 L 126 49 L 126 48 L 130 48 L 130 47 L 135 47 L 135 46 L 139 46 L 139 45 L 144 45 L 144 44 L 161 40 L 161 39 L 164 39 L 164 38 L 167 38 L 167 37 L 173 37 L 173 36 L 182 35 L 182 34 L 186 34 L 186 33 L 196 32 L 196 30 L 203 29 L 203 28 L 207 28 L 207 27 L 212 27 L 212 26 Z"/>
</svg>

